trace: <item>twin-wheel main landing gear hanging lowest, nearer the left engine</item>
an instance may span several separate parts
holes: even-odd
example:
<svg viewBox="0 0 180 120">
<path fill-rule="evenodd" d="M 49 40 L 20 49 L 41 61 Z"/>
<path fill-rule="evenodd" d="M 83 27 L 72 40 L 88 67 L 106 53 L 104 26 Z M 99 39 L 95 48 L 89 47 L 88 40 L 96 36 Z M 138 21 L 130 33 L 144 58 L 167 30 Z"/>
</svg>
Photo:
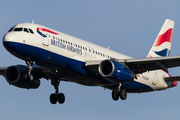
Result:
<svg viewBox="0 0 180 120">
<path fill-rule="evenodd" d="M 63 93 L 59 93 L 59 83 L 60 83 L 60 80 L 54 80 L 53 81 L 53 86 L 56 90 L 55 93 L 52 93 L 50 95 L 50 102 L 51 104 L 56 104 L 57 101 L 60 103 L 60 104 L 63 104 L 65 102 L 65 96 Z"/>
</svg>

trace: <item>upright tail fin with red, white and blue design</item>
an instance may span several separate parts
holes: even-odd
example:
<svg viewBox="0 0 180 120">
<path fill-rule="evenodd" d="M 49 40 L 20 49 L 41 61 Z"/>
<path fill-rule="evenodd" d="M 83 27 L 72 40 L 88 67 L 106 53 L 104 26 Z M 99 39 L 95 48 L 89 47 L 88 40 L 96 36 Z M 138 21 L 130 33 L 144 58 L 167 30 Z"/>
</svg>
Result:
<svg viewBox="0 0 180 120">
<path fill-rule="evenodd" d="M 169 56 L 174 29 L 174 21 L 166 19 L 147 58 Z"/>
</svg>

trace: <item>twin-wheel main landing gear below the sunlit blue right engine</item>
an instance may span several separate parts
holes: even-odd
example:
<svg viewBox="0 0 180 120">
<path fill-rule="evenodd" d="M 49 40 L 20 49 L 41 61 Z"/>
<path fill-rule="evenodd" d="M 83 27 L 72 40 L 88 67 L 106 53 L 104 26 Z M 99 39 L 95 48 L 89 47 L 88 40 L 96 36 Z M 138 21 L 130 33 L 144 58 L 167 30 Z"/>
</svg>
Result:
<svg viewBox="0 0 180 120">
<path fill-rule="evenodd" d="M 127 91 L 125 89 L 121 89 L 121 85 L 118 86 L 117 90 L 112 91 L 112 99 L 117 101 L 121 98 L 121 100 L 125 100 L 127 98 Z"/>
</svg>

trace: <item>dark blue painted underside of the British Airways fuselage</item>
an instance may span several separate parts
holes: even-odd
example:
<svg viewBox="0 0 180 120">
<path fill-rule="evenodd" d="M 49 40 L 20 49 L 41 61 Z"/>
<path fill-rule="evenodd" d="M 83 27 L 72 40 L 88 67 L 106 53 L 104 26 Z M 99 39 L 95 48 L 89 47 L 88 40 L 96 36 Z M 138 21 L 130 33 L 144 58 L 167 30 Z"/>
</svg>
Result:
<svg viewBox="0 0 180 120">
<path fill-rule="evenodd" d="M 85 62 L 74 60 L 71 58 L 64 57 L 62 55 L 52 53 L 48 50 L 34 47 L 27 44 L 15 43 L 15 42 L 3 42 L 5 48 L 21 59 L 26 59 L 30 57 L 32 60 L 43 62 L 51 65 L 53 68 L 70 69 L 76 73 L 87 76 L 86 71 L 83 69 Z M 12 51 L 13 50 L 13 51 Z M 89 77 L 89 76 L 87 76 Z M 94 76 L 93 78 L 96 78 Z M 91 81 L 97 81 L 99 78 L 92 79 Z M 102 81 L 101 81 L 102 82 Z M 112 82 L 110 82 L 112 84 Z M 126 89 L 128 92 L 148 92 L 153 91 L 153 89 L 145 84 L 133 81 L 131 83 L 123 83 L 122 88 Z"/>
</svg>

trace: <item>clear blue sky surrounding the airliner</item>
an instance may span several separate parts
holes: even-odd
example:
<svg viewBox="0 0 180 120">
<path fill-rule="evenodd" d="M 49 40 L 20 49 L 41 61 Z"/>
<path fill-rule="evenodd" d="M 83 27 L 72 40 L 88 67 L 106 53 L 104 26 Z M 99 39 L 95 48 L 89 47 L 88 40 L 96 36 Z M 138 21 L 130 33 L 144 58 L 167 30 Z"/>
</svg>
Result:
<svg viewBox="0 0 180 120">
<path fill-rule="evenodd" d="M 165 19 L 175 21 L 171 55 L 180 55 L 179 1 L 175 0 L 6 0 L 0 4 L 0 38 L 17 23 L 32 22 L 56 29 L 134 58 L 149 52 Z M 0 44 L 0 66 L 25 64 Z M 180 75 L 180 68 L 170 69 Z M 165 91 L 128 94 L 113 101 L 111 91 L 61 82 L 63 105 L 51 105 L 50 81 L 36 90 L 9 85 L 0 77 L 2 120 L 169 120 L 180 118 L 180 87 Z"/>
</svg>

